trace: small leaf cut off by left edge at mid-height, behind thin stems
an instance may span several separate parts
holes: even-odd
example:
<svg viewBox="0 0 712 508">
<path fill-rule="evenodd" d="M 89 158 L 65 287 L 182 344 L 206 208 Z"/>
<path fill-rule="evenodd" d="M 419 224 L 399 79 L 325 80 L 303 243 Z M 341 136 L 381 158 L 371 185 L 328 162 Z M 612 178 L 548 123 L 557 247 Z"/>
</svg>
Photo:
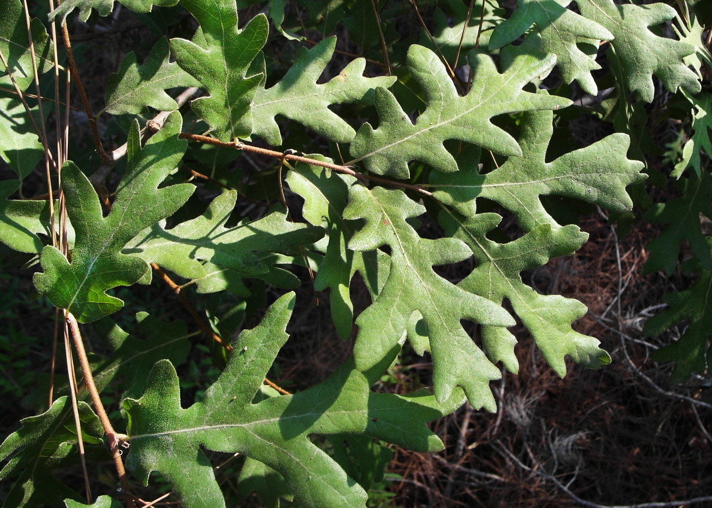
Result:
<svg viewBox="0 0 712 508">
<path fill-rule="evenodd" d="M 0 241 L 23 253 L 40 253 L 43 245 L 36 233 L 50 231 L 49 203 L 9 200 L 19 186 L 17 180 L 0 181 Z"/>
</svg>

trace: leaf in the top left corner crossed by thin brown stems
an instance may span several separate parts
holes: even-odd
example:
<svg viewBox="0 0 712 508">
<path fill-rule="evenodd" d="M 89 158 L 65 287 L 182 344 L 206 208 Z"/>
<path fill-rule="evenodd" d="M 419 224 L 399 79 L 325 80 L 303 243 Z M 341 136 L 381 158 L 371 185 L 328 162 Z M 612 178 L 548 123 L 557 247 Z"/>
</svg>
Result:
<svg viewBox="0 0 712 508">
<path fill-rule="evenodd" d="M 14 78 L 24 90 L 34 76 L 27 22 L 20 0 L 0 0 L 0 51 L 4 55 Z M 41 75 L 54 66 L 54 46 L 43 23 L 37 18 L 30 21 L 30 32 L 35 50 L 37 70 Z M 1 64 L 0 64 L 1 65 Z M 0 75 L 7 69 L 0 68 Z M 10 87 L 11 88 L 11 87 Z"/>
</svg>

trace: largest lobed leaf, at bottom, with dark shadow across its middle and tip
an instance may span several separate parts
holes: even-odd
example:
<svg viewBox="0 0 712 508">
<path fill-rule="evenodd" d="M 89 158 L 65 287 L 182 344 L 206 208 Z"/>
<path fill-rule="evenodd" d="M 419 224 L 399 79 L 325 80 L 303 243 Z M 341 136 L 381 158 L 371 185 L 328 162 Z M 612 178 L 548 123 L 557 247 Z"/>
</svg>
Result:
<svg viewBox="0 0 712 508">
<path fill-rule="evenodd" d="M 153 368 L 145 394 L 127 399 L 131 451 L 127 467 L 143 482 L 152 470 L 172 484 L 184 507 L 224 507 L 213 469 L 200 450 L 240 452 L 285 478 L 305 507 L 364 507 L 366 494 L 326 453 L 313 433 L 365 433 L 423 451 L 442 448 L 424 423 L 464 402 L 455 393 L 443 406 L 426 393 L 397 396 L 371 392 L 387 365 L 362 373 L 347 361 L 327 381 L 293 396 L 251 403 L 274 358 L 294 306 L 290 293 L 277 300 L 261 324 L 244 331 L 219 379 L 193 406 L 180 406 L 179 381 L 169 361 Z M 399 347 L 387 355 L 394 359 Z M 376 371 L 377 370 L 377 371 Z"/>
</svg>

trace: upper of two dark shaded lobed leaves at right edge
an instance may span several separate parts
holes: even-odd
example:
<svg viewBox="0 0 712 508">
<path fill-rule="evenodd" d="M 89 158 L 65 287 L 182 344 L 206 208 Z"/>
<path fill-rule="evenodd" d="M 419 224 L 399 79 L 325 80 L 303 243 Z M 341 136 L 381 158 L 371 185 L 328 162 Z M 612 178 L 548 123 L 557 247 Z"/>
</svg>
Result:
<svg viewBox="0 0 712 508">
<path fill-rule="evenodd" d="M 648 243 L 650 257 L 643 265 L 643 273 L 663 270 L 670 276 L 677 265 L 680 247 L 684 240 L 704 270 L 712 269 L 712 255 L 700 226 L 700 214 L 712 218 L 712 179 L 707 171 L 701 178 L 689 176 L 677 183 L 682 197 L 668 203 L 656 203 L 646 211 L 643 218 L 654 223 L 670 223 L 670 226 Z"/>
</svg>

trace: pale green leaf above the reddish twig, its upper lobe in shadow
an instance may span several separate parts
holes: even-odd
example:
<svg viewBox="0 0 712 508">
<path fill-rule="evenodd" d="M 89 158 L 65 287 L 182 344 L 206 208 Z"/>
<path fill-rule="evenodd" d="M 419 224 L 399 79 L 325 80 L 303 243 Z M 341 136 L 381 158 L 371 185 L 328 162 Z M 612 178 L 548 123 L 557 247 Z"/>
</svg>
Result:
<svg viewBox="0 0 712 508">
<path fill-rule="evenodd" d="M 329 110 L 329 106 L 352 102 L 372 105 L 375 88 L 387 88 L 396 78 L 364 78 L 366 60 L 357 58 L 328 83 L 317 85 L 316 81 L 330 62 L 335 47 L 336 37 L 329 37 L 309 50 L 300 48 L 294 65 L 279 83 L 268 90 L 264 88 L 266 77 L 263 74 L 252 102 L 253 134 L 274 146 L 281 145 L 282 137 L 275 120 L 277 115 L 281 115 L 335 142 L 352 141 L 355 130 Z"/>
</svg>

